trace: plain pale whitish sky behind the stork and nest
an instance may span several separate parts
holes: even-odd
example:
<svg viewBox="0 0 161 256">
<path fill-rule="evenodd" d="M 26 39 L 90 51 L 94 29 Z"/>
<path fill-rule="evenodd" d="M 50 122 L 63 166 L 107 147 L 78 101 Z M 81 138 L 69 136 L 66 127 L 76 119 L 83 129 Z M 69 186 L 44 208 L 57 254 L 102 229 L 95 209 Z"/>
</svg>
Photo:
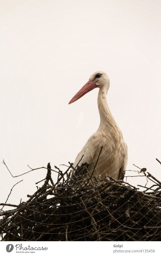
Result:
<svg viewBox="0 0 161 256">
<path fill-rule="evenodd" d="M 135 163 L 161 178 L 160 17 L 159 0 L 0 1 L 0 160 L 13 175 L 27 164 L 75 160 L 99 125 L 98 89 L 68 102 L 103 70 L 108 105 L 128 145 L 127 169 L 137 170 Z M 19 204 L 45 176 L 37 170 L 12 178 L 1 164 L 0 201 L 24 179 L 8 200 Z M 128 181 L 144 185 L 142 179 Z"/>
</svg>

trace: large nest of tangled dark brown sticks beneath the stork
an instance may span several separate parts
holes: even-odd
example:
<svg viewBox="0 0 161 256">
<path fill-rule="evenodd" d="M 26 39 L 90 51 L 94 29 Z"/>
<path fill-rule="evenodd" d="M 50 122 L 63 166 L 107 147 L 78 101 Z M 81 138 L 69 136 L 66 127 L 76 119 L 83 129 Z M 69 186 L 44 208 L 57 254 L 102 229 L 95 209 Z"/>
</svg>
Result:
<svg viewBox="0 0 161 256">
<path fill-rule="evenodd" d="M 142 192 L 109 176 L 103 180 L 91 178 L 85 168 L 81 178 L 71 185 L 69 168 L 64 174 L 57 168 L 58 179 L 54 184 L 51 171 L 54 170 L 48 163 L 44 184 L 33 195 L 27 195 L 28 201 L 1 204 L 14 207 L 0 212 L 2 241 L 161 239 L 161 182 L 150 173 L 143 175 L 153 185 L 145 186 Z"/>
</svg>

